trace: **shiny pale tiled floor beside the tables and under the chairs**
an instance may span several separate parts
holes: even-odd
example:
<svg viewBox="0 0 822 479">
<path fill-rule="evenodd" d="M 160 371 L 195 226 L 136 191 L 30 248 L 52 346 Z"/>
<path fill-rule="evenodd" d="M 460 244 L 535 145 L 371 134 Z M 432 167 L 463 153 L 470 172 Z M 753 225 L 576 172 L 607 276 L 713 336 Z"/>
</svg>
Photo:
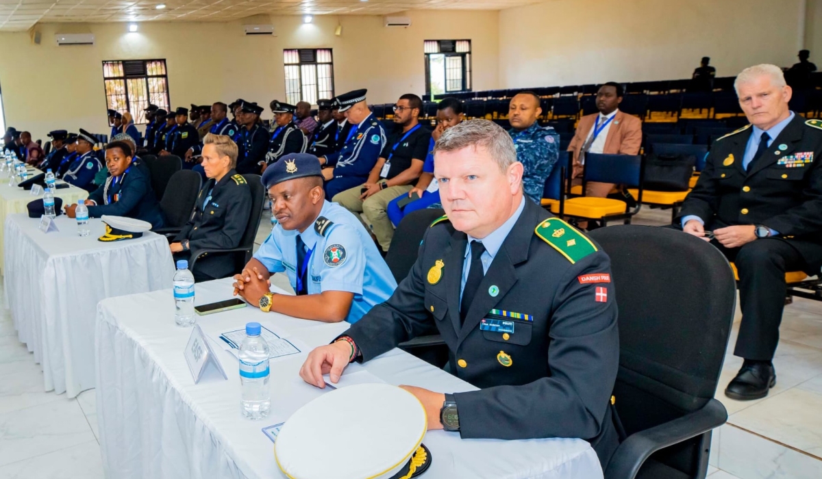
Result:
<svg viewBox="0 0 822 479">
<path fill-rule="evenodd" d="M 659 225 L 669 211 L 643 210 L 634 223 Z M 256 237 L 270 233 L 264 214 Z M 0 294 L 2 299 L 2 294 Z M 2 306 L 2 305 L 0 305 Z M 740 315 L 737 311 L 737 321 Z M 822 477 L 822 302 L 796 299 L 785 309 L 774 365 L 778 382 L 767 398 L 750 403 L 722 391 L 741 359 L 728 345 L 717 398 L 730 415 L 713 435 L 711 479 Z M 43 392 L 43 372 L 16 339 L 0 307 L 0 479 L 103 477 L 95 391 L 75 399 Z"/>
</svg>

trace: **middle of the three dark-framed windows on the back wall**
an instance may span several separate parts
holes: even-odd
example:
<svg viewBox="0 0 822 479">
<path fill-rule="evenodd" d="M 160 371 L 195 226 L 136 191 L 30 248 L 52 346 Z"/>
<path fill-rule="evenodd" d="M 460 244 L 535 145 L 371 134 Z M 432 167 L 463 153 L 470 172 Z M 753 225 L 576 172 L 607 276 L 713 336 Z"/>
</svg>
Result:
<svg viewBox="0 0 822 479">
<path fill-rule="evenodd" d="M 334 97 L 334 55 L 331 48 L 283 50 L 285 101 L 312 105 Z"/>
</svg>

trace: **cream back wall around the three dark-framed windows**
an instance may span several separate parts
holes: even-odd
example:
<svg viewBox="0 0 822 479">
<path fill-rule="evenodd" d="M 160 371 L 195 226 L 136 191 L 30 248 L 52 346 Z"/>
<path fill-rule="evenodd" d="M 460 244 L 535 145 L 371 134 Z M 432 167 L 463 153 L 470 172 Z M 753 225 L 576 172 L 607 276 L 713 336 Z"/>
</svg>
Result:
<svg viewBox="0 0 822 479">
<path fill-rule="evenodd" d="M 386 28 L 381 16 L 272 17 L 276 36 L 244 35 L 239 22 L 39 25 L 43 41 L 27 33 L 0 34 L 0 87 L 6 124 L 36 138 L 64 128 L 108 133 L 104 60 L 165 58 L 173 107 L 229 103 L 242 97 L 266 106 L 284 99 L 284 48 L 334 48 L 336 92 L 368 89 L 371 103 L 423 94 L 425 39 L 471 39 L 477 90 L 498 88 L 498 12 L 406 12 L 409 28 Z M 335 36 L 339 22 L 343 35 Z M 95 34 L 93 46 L 62 46 L 55 33 Z"/>
</svg>

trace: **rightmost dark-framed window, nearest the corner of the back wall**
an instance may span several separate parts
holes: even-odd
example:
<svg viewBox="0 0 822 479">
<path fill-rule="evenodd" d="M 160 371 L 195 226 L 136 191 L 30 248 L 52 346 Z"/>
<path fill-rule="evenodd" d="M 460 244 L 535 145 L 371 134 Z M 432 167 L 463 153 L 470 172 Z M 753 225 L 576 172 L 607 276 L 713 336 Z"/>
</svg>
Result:
<svg viewBox="0 0 822 479">
<path fill-rule="evenodd" d="M 471 40 L 425 40 L 425 95 L 471 91 Z"/>
</svg>

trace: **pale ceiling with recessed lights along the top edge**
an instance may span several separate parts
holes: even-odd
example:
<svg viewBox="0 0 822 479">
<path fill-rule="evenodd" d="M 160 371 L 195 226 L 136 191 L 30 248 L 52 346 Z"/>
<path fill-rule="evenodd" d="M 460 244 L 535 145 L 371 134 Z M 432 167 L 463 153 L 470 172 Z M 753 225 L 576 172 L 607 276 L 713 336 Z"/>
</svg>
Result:
<svg viewBox="0 0 822 479">
<path fill-rule="evenodd" d="M 406 10 L 501 10 L 542 0 L 0 0 L 0 31 L 28 30 L 38 22 L 225 21 L 275 15 L 390 15 Z"/>
</svg>

